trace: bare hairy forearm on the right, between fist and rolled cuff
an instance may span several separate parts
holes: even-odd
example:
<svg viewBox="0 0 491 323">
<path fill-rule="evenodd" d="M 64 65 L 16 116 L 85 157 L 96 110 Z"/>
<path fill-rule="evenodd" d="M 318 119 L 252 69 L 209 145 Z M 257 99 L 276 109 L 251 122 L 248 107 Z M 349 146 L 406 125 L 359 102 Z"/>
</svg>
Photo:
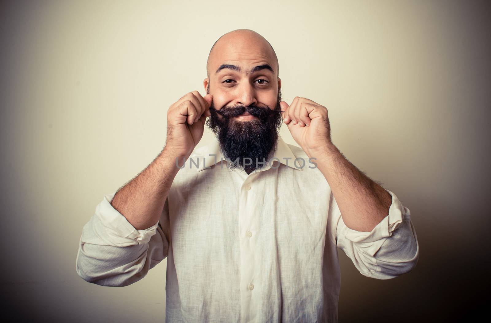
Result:
<svg viewBox="0 0 491 323">
<path fill-rule="evenodd" d="M 360 232 L 372 231 L 389 214 L 390 193 L 356 168 L 333 144 L 313 155 L 346 226 Z"/>
</svg>

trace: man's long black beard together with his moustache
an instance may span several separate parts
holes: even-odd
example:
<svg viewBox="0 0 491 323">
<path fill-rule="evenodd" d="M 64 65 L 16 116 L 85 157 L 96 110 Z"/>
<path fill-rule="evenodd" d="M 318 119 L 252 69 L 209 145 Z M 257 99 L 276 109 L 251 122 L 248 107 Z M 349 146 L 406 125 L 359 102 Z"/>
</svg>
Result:
<svg viewBox="0 0 491 323">
<path fill-rule="evenodd" d="M 224 157 L 231 161 L 230 168 L 250 174 L 267 165 L 283 123 L 280 101 L 279 90 L 274 109 L 234 106 L 216 110 L 212 101 L 211 116 L 207 118 L 206 125 L 217 136 Z M 257 118 L 247 121 L 234 119 L 244 112 Z"/>
</svg>

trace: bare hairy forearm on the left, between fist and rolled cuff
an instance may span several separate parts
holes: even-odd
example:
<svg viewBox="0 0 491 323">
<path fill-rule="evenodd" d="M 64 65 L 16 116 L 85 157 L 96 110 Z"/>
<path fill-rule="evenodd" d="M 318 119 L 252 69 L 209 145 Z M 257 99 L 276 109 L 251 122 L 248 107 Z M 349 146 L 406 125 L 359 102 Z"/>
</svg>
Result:
<svg viewBox="0 0 491 323">
<path fill-rule="evenodd" d="M 172 181 L 179 171 L 176 158 L 172 152 L 164 149 L 114 195 L 112 207 L 124 215 L 136 230 L 147 229 L 159 220 Z M 179 159 L 180 164 L 182 160 Z"/>
</svg>

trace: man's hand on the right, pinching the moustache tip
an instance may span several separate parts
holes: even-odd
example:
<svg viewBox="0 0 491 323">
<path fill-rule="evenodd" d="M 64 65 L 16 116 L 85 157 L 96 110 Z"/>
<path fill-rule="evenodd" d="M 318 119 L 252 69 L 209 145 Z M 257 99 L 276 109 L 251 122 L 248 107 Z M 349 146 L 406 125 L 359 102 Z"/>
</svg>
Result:
<svg viewBox="0 0 491 323">
<path fill-rule="evenodd" d="M 327 108 L 306 98 L 295 97 L 291 105 L 280 102 L 288 130 L 309 157 L 333 147 Z"/>
</svg>

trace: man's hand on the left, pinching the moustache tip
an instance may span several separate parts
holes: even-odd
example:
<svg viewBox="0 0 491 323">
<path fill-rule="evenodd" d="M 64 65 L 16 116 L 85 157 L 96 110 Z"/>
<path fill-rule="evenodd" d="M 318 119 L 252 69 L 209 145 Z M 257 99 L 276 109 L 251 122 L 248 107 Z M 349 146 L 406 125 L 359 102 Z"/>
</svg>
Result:
<svg viewBox="0 0 491 323">
<path fill-rule="evenodd" d="M 169 107 L 164 150 L 180 159 L 191 156 L 203 136 L 206 117 L 211 115 L 212 100 L 211 94 L 202 97 L 198 91 L 192 91 Z"/>
</svg>

